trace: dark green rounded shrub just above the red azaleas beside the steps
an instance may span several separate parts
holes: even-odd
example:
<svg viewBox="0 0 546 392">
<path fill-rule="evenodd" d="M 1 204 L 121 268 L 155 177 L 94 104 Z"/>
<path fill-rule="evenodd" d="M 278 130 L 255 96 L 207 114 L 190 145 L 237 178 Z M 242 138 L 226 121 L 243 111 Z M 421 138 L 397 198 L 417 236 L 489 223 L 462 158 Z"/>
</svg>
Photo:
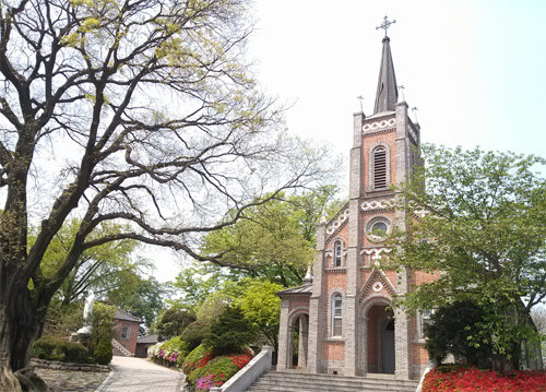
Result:
<svg viewBox="0 0 546 392">
<path fill-rule="evenodd" d="M 214 355 L 242 353 L 245 345 L 257 337 L 252 323 L 245 318 L 241 309 L 228 307 L 217 320 L 211 324 L 211 332 L 204 343 L 212 347 Z"/>
</svg>

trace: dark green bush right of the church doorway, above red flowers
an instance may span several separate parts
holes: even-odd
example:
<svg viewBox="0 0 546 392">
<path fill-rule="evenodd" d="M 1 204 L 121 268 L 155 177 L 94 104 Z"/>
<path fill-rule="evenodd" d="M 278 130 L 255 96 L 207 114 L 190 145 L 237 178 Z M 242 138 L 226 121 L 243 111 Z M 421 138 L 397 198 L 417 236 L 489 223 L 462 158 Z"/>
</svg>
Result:
<svg viewBox="0 0 546 392">
<path fill-rule="evenodd" d="M 454 302 L 439 308 L 425 325 L 425 348 L 440 365 L 448 354 L 464 357 L 468 365 L 484 365 L 491 353 L 488 345 L 473 345 L 472 337 L 479 334 L 484 310 L 471 301 Z"/>
</svg>

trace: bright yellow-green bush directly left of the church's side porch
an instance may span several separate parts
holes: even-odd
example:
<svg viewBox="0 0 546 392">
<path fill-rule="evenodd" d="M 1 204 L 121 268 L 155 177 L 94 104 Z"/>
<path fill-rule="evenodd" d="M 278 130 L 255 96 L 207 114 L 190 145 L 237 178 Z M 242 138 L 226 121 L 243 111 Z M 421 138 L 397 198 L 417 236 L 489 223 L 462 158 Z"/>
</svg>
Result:
<svg viewBox="0 0 546 392">
<path fill-rule="evenodd" d="M 271 282 L 250 283 L 238 304 L 245 318 L 268 338 L 274 351 L 277 349 L 278 319 L 281 298 L 276 295 L 283 286 Z"/>
</svg>

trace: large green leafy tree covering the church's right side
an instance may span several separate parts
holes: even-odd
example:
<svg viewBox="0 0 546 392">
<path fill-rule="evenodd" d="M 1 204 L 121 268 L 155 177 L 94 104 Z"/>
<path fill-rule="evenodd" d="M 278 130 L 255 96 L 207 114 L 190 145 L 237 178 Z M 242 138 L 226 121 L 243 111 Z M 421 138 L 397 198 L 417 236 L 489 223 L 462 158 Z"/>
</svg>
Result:
<svg viewBox="0 0 546 392">
<path fill-rule="evenodd" d="M 436 278 L 400 300 L 413 310 L 471 300 L 484 311 L 471 344 L 490 346 L 496 368 L 517 367 L 521 342 L 538 336 L 530 311 L 546 297 L 546 181 L 534 171 L 545 161 L 430 145 L 424 156 L 400 189 L 401 207 L 420 217 L 394 235 L 392 260 Z"/>
</svg>

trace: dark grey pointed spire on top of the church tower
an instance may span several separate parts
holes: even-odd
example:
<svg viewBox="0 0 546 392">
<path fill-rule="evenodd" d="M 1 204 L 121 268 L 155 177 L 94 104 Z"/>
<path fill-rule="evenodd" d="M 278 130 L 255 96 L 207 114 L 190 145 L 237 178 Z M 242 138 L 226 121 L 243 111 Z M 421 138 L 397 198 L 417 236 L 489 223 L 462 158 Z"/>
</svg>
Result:
<svg viewBox="0 0 546 392">
<path fill-rule="evenodd" d="M 394 110 L 394 105 L 399 100 L 396 75 L 394 74 L 394 66 L 392 63 L 390 41 L 391 39 L 388 36 L 383 37 L 383 54 L 381 56 L 381 68 L 379 70 L 373 115 Z"/>
</svg>

